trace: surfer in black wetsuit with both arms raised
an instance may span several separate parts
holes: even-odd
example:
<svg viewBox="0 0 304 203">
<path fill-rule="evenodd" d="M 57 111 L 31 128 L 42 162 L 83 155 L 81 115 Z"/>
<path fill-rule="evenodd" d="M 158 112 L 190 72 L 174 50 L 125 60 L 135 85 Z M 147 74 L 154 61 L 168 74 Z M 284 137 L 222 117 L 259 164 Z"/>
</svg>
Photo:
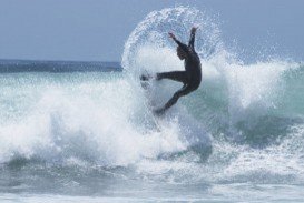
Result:
<svg viewBox="0 0 304 203">
<path fill-rule="evenodd" d="M 187 95 L 188 93 L 195 91 L 202 81 L 202 68 L 198 54 L 195 52 L 194 49 L 194 41 L 195 41 L 195 33 L 197 27 L 193 27 L 190 30 L 190 39 L 188 45 L 182 43 L 179 40 L 176 39 L 174 33 L 169 32 L 169 38 L 171 38 L 177 43 L 177 57 L 184 61 L 185 71 L 171 71 L 171 72 L 160 72 L 156 73 L 155 79 L 170 79 L 174 81 L 183 82 L 183 88 L 179 89 L 177 92 L 174 93 L 173 98 L 163 106 L 154 112 L 156 114 L 163 114 L 167 109 L 173 106 L 177 100 Z M 149 75 L 141 75 L 140 80 L 149 80 L 151 77 Z"/>
</svg>

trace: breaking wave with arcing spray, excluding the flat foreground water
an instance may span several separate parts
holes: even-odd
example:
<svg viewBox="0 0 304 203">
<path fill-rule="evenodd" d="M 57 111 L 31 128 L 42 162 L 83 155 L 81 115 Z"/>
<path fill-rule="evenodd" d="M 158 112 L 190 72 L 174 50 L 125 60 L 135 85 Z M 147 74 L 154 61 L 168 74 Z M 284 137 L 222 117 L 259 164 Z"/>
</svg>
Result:
<svg viewBox="0 0 304 203">
<path fill-rule="evenodd" d="M 145 70 L 182 70 L 167 31 L 187 41 L 193 24 L 199 26 L 196 50 L 203 85 L 156 123 L 138 75 Z M 296 72 L 297 64 L 280 60 L 244 64 L 233 55 L 213 19 L 178 7 L 154 11 L 137 26 L 125 45 L 120 77 L 2 77 L 0 161 L 38 156 L 55 164 L 133 164 L 139 174 L 165 174 L 160 179 L 173 182 L 264 181 L 265 174 L 301 180 L 303 121 L 278 113 L 293 80 L 286 73 Z M 160 82 L 156 95 L 164 102 L 177 85 Z M 199 155 L 210 144 L 208 133 L 213 152 L 202 163 Z M 247 142 L 231 142 L 231 135 Z M 262 148 L 264 142 L 271 144 Z M 280 170 L 271 166 L 286 161 Z"/>
</svg>

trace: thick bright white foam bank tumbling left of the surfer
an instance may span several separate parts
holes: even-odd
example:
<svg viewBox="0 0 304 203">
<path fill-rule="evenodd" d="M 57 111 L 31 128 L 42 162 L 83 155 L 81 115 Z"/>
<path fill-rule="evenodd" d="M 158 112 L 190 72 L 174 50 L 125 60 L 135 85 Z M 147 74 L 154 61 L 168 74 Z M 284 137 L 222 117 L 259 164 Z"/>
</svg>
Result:
<svg viewBox="0 0 304 203">
<path fill-rule="evenodd" d="M 49 162 L 80 159 L 127 165 L 187 148 L 178 122 L 164 124 L 161 131 L 144 126 L 149 112 L 143 95 L 126 79 L 71 85 L 72 91 L 67 84 L 40 87 L 43 93 L 32 101 L 32 113 L 0 126 L 2 163 L 21 155 Z"/>
</svg>

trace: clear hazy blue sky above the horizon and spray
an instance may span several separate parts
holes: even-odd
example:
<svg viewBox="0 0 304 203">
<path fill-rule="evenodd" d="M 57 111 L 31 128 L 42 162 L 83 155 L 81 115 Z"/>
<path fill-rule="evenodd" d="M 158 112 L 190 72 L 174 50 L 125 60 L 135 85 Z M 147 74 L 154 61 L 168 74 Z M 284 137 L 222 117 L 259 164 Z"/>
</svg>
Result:
<svg viewBox="0 0 304 203">
<path fill-rule="evenodd" d="M 120 61 L 149 12 L 180 4 L 216 17 L 245 58 L 304 61 L 304 0 L 0 0 L 0 59 Z"/>
</svg>

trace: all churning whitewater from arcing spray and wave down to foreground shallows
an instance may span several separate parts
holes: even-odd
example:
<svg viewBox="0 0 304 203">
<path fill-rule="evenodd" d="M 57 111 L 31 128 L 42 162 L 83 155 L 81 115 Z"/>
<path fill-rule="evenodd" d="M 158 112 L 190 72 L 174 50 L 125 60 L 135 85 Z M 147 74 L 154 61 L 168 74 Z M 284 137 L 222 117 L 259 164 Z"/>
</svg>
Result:
<svg viewBox="0 0 304 203">
<path fill-rule="evenodd" d="M 194 24 L 203 82 L 156 118 L 182 84 L 147 97 L 139 75 L 183 70 L 167 32 Z M 1 202 L 303 202 L 304 67 L 246 63 L 218 24 L 167 8 L 126 39 L 121 71 L 0 73 Z"/>
</svg>

